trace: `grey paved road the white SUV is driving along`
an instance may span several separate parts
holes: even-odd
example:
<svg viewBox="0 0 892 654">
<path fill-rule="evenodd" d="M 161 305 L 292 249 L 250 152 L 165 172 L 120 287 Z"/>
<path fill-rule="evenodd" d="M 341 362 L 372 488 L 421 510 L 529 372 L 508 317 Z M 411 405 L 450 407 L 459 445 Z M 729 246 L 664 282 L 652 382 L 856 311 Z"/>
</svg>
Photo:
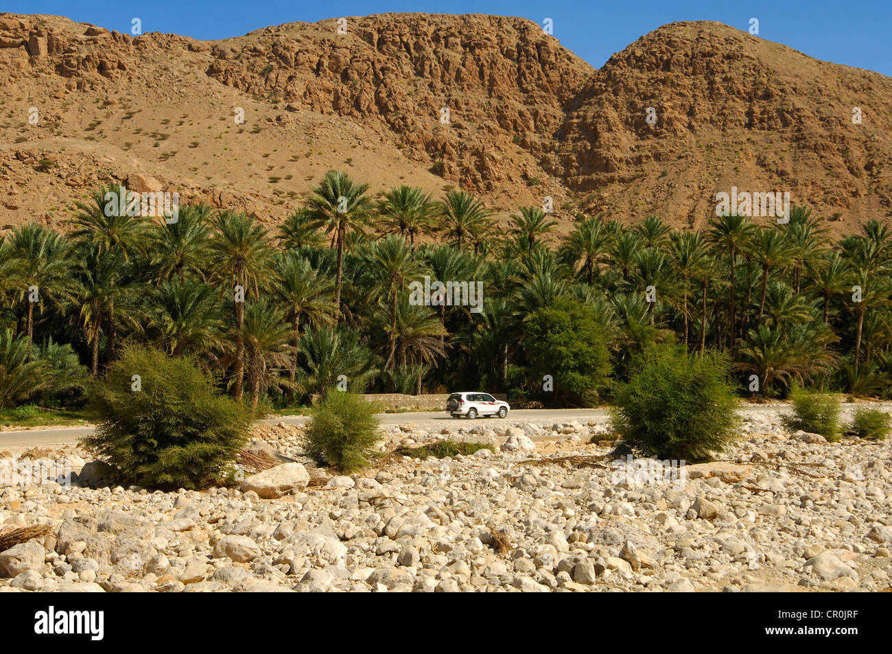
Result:
<svg viewBox="0 0 892 654">
<path fill-rule="evenodd" d="M 843 406 L 846 406 L 845 404 Z M 877 406 L 877 405 L 873 405 Z M 880 405 L 883 409 L 892 409 L 892 404 L 884 403 Z M 747 405 L 747 411 L 757 411 L 759 413 L 769 413 L 772 411 L 783 409 L 778 405 Z M 595 416 L 606 416 L 606 409 L 530 409 L 530 410 L 513 410 L 508 414 L 509 420 L 554 420 L 561 422 L 568 418 L 583 420 L 593 418 Z M 445 421 L 453 425 L 467 425 L 469 421 L 461 418 L 460 421 L 451 418 L 445 411 L 419 411 L 417 413 L 379 413 L 377 416 L 381 420 L 382 425 L 406 425 L 411 423 L 424 423 Z M 496 422 L 499 418 L 478 418 L 484 423 Z M 307 421 L 306 416 L 280 416 L 278 418 L 266 418 L 260 422 L 268 424 L 277 424 L 284 422 L 288 425 L 302 425 Z M 54 443 L 75 443 L 82 435 L 90 434 L 93 427 L 77 426 L 77 427 L 58 427 L 55 429 L 28 429 L 18 432 L 0 432 L 0 448 L 4 447 L 21 447 L 29 445 L 49 445 Z"/>
</svg>

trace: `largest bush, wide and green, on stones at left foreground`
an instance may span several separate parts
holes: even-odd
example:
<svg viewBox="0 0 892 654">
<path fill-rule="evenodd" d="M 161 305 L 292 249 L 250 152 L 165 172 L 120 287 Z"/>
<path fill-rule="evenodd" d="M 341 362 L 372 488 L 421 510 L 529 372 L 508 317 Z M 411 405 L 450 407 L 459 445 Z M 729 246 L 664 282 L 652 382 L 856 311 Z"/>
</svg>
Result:
<svg viewBox="0 0 892 654">
<path fill-rule="evenodd" d="M 194 360 L 136 345 L 92 387 L 87 410 L 97 421 L 83 439 L 88 450 L 137 484 L 169 488 L 219 483 L 251 422 Z"/>
</svg>

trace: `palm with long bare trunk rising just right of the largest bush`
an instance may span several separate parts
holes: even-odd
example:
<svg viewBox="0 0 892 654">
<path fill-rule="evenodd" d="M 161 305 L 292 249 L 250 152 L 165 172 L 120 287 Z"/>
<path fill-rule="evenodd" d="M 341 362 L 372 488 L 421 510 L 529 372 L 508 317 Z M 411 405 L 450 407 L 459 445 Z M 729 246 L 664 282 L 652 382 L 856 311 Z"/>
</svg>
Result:
<svg viewBox="0 0 892 654">
<path fill-rule="evenodd" d="M 214 223 L 211 252 L 218 274 L 232 288 L 241 286 L 244 297 L 233 302 L 235 313 L 235 399 L 244 395 L 244 301 L 258 297 L 260 285 L 269 277 L 271 252 L 267 230 L 244 213 L 223 211 Z M 221 288 L 222 292 L 222 288 Z"/>
</svg>

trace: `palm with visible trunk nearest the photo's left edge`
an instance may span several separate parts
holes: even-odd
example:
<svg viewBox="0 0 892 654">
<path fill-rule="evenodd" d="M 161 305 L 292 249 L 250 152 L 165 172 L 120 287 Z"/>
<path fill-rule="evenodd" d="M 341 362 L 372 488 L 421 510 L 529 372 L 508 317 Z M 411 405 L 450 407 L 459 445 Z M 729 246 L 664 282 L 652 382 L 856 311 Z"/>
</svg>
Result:
<svg viewBox="0 0 892 654">
<path fill-rule="evenodd" d="M 57 306 L 71 300 L 70 244 L 61 234 L 37 223 L 12 228 L 7 255 L 12 258 L 12 279 L 18 286 L 21 300 L 28 301 L 25 333 L 28 342 L 34 337 L 34 305 L 43 311 L 44 301 Z M 37 301 L 32 301 L 31 288 L 37 289 Z"/>
</svg>

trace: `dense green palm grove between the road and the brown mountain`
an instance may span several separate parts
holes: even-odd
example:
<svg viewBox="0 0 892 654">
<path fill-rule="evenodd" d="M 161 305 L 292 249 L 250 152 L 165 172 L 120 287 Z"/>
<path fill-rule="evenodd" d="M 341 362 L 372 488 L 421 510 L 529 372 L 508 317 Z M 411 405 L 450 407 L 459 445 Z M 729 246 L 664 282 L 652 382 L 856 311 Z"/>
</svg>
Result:
<svg viewBox="0 0 892 654">
<path fill-rule="evenodd" d="M 466 192 L 373 198 L 330 171 L 269 230 L 203 205 L 171 224 L 116 215 L 108 192 L 64 234 L 29 223 L 0 242 L 0 409 L 79 402 L 130 342 L 191 357 L 260 409 L 339 381 L 578 406 L 673 341 L 725 351 L 741 393 L 756 379 L 766 395 L 892 394 L 892 237 L 877 220 L 831 243 L 804 207 L 785 225 L 730 215 L 703 232 L 579 217 L 557 239 L 539 208 L 506 230 Z M 410 302 L 425 276 L 483 281 L 483 311 Z"/>
</svg>

